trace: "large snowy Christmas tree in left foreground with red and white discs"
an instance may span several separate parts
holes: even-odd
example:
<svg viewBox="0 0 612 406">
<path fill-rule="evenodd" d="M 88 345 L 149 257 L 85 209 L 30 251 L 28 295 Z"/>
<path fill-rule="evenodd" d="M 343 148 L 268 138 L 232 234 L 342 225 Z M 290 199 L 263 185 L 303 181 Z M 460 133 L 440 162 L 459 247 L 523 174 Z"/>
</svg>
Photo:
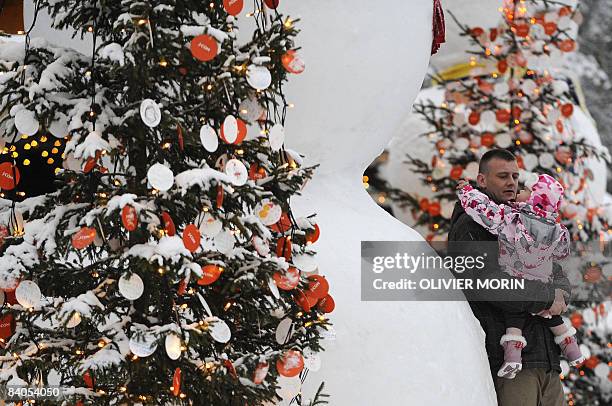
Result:
<svg viewBox="0 0 612 406">
<path fill-rule="evenodd" d="M 93 41 L 0 43 L 0 382 L 156 405 L 280 383 L 300 404 L 334 302 L 289 204 L 315 169 L 284 148 L 297 21 L 273 0 L 35 5 Z M 56 192 L 22 199 L 18 149 L 61 162 Z"/>
</svg>

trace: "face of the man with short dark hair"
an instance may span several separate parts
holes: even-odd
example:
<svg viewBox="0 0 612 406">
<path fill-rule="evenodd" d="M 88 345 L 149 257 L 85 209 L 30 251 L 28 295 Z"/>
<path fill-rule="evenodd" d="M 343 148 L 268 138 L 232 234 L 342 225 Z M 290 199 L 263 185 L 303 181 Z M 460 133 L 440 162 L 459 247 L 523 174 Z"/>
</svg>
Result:
<svg viewBox="0 0 612 406">
<path fill-rule="evenodd" d="M 516 198 L 518 189 L 518 164 L 493 158 L 487 165 L 487 173 L 479 173 L 478 186 L 498 203 L 508 203 Z"/>
</svg>

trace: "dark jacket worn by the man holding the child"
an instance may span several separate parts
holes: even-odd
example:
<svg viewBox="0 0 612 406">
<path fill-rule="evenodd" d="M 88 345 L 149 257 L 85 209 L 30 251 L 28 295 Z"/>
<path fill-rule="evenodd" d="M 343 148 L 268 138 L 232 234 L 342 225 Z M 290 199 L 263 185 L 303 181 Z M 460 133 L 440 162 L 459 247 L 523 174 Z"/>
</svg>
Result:
<svg viewBox="0 0 612 406">
<path fill-rule="evenodd" d="M 486 231 L 476 223 L 461 207 L 459 203 L 455 205 L 451 217 L 451 228 L 448 233 L 450 241 L 497 241 L 497 236 Z M 512 278 L 512 276 L 502 272 L 497 263 L 497 257 L 490 258 L 486 267 L 486 274 L 477 276 L 478 278 Z M 497 370 L 503 363 L 503 347 L 499 341 L 505 334 L 503 310 L 520 311 L 527 314 L 527 319 L 523 329 L 523 335 L 527 340 L 527 346 L 523 348 L 523 369 L 527 368 L 546 368 L 561 372 L 559 366 L 560 349 L 554 342 L 554 335 L 550 329 L 544 326 L 538 317 L 531 313 L 537 313 L 548 309 L 554 301 L 555 288 L 563 289 L 567 293 L 571 292 L 570 284 L 563 274 L 561 267 L 555 264 L 554 282 L 546 284 L 539 281 L 525 280 L 525 290 L 521 293 L 510 292 L 512 295 L 524 295 L 524 297 L 514 297 L 511 301 L 483 301 L 486 297 L 478 297 L 480 292 L 466 293 L 470 307 L 474 316 L 486 334 L 486 351 L 489 356 L 491 372 L 495 376 Z M 459 276 L 459 275 L 457 275 Z M 461 275 L 460 277 L 470 277 Z"/>
</svg>

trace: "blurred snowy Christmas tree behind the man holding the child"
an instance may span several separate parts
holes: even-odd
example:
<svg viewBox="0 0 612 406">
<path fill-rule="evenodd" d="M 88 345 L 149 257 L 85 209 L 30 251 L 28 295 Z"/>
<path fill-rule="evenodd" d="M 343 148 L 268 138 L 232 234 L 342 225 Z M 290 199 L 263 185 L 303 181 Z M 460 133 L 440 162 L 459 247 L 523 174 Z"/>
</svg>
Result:
<svg viewBox="0 0 612 406">
<path fill-rule="evenodd" d="M 533 182 L 536 173 L 548 173 L 565 185 L 562 219 L 575 241 L 607 240 L 608 219 L 591 186 L 605 177 L 595 172 L 594 162 L 609 162 L 608 153 L 577 125 L 583 114 L 575 89 L 555 69 L 576 47 L 575 2 L 505 0 L 499 10 L 502 22 L 491 29 L 457 22 L 462 35 L 475 45 L 469 51 L 467 75 L 452 80 L 434 76 L 443 101 L 415 105 L 428 128 L 426 141 L 419 145 L 430 144 L 432 154 L 421 159 L 423 151 L 410 150 L 406 170 L 418 173 L 422 186 L 379 186 L 384 194 L 378 198 L 409 209 L 411 225 L 428 239 L 444 239 L 456 182 L 476 178 L 477 161 L 484 152 L 506 148 L 517 157 L 523 184 Z M 583 351 L 592 357 L 572 371 L 562 363 L 567 399 L 570 404 L 605 404 L 612 395 L 606 320 L 612 303 L 604 272 L 609 264 L 602 255 L 591 255 L 576 266 L 581 272 L 574 282 L 581 289 L 575 292 L 568 322 L 580 327 Z"/>
</svg>

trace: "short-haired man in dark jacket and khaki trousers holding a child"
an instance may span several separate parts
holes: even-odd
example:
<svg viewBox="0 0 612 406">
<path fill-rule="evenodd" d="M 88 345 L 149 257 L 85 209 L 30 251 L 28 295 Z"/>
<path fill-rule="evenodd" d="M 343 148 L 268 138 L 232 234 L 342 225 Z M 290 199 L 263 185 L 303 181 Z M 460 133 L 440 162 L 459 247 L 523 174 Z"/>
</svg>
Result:
<svg viewBox="0 0 612 406">
<path fill-rule="evenodd" d="M 515 156 L 507 150 L 495 149 L 485 153 L 478 170 L 478 188 L 497 203 L 508 203 L 516 198 L 519 167 Z M 459 203 L 451 217 L 448 233 L 451 241 L 497 241 L 465 213 Z M 499 269 L 497 255 L 489 258 L 487 267 L 475 276 L 480 279 L 512 278 Z M 461 277 L 470 277 L 462 275 Z M 560 266 L 554 266 L 554 283 L 524 280 L 525 289 L 509 291 L 503 300 L 484 291 L 466 293 L 470 307 L 486 334 L 486 351 L 499 406 L 562 406 L 565 405 L 559 373 L 559 347 L 554 342 L 550 329 L 532 314 L 545 309 L 551 314 L 566 310 L 570 285 Z M 488 292 L 490 293 L 490 292 Z M 503 347 L 500 339 L 505 333 L 503 310 L 521 311 L 528 314 L 523 329 L 527 345 L 522 350 L 522 370 L 513 378 L 497 376 L 503 362 Z"/>
</svg>

